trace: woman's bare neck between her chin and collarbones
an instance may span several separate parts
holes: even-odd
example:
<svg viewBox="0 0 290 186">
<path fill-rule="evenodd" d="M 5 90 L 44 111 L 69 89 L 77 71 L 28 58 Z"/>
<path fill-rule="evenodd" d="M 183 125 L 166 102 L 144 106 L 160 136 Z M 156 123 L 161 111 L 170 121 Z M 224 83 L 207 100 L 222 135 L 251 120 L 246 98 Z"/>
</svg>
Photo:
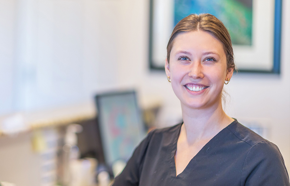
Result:
<svg viewBox="0 0 290 186">
<path fill-rule="evenodd" d="M 189 143 L 212 138 L 231 122 L 223 111 L 221 100 L 218 104 L 204 109 L 193 109 L 182 105 L 183 127 L 181 133 L 186 135 Z"/>
</svg>

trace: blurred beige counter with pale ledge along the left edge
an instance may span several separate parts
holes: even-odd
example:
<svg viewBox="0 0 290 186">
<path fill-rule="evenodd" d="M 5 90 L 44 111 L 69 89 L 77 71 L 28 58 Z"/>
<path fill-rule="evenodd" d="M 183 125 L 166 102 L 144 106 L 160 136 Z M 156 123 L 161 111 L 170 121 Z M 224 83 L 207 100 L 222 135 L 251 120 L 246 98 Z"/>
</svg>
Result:
<svg viewBox="0 0 290 186">
<path fill-rule="evenodd" d="M 96 116 L 94 103 L 84 103 L 35 112 L 12 113 L 0 116 L 3 121 L 15 115 L 21 115 L 24 130 L 14 134 L 0 132 L 0 180 L 15 183 L 16 186 L 41 186 L 44 153 L 32 150 L 32 138 L 35 131 L 57 133 L 64 126 L 80 121 L 92 121 Z M 55 139 L 61 138 L 58 136 Z M 52 160 L 54 161 L 54 160 Z"/>
</svg>

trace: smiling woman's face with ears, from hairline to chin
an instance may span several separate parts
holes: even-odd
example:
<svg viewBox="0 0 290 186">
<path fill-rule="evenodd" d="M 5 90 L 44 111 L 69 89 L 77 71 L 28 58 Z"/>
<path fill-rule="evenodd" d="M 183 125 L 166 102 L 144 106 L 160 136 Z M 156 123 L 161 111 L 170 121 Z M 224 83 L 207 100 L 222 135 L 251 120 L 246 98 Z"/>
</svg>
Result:
<svg viewBox="0 0 290 186">
<path fill-rule="evenodd" d="M 221 103 L 224 82 L 233 75 L 223 44 L 203 31 L 179 34 L 173 42 L 165 71 L 181 104 L 202 109 Z"/>
</svg>

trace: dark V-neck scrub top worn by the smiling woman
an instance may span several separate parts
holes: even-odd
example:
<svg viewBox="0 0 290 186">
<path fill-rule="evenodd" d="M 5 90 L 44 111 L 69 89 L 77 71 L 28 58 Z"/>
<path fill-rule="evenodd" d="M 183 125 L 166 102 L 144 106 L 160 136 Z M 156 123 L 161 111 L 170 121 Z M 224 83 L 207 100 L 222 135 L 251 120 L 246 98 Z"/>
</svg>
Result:
<svg viewBox="0 0 290 186">
<path fill-rule="evenodd" d="M 181 124 L 151 131 L 113 186 L 289 186 L 278 147 L 233 121 L 176 176 L 174 154 Z"/>
</svg>

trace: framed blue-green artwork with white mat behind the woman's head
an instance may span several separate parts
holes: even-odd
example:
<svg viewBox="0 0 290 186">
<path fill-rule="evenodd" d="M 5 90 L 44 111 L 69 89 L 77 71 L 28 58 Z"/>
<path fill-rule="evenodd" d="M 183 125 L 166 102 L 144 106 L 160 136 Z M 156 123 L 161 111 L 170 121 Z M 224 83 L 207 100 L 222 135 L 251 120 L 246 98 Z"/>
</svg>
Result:
<svg viewBox="0 0 290 186">
<path fill-rule="evenodd" d="M 164 70 L 174 26 L 209 13 L 227 27 L 240 72 L 280 73 L 281 0 L 150 0 L 150 68 Z"/>
</svg>

